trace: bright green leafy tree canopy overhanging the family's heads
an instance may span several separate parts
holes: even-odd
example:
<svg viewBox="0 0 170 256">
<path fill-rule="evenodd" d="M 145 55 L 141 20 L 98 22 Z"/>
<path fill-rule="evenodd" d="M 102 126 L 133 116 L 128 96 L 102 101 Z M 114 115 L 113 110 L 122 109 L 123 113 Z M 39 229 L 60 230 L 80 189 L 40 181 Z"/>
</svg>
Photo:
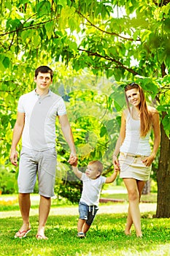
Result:
<svg viewBox="0 0 170 256">
<path fill-rule="evenodd" d="M 157 105 L 169 140 L 169 0 L 2 0 L 0 13 L 2 163 L 9 156 L 18 97 L 34 89 L 34 69 L 42 64 L 56 70 L 58 84 L 76 75 L 107 78 L 112 86 L 102 91 L 102 83 L 99 91 L 107 92 L 106 108 L 117 112 L 123 108 L 120 85 L 135 80 Z M 73 100 L 72 84 L 63 83 L 67 96 L 68 87 Z M 107 136 L 105 128 L 99 133 Z"/>
</svg>

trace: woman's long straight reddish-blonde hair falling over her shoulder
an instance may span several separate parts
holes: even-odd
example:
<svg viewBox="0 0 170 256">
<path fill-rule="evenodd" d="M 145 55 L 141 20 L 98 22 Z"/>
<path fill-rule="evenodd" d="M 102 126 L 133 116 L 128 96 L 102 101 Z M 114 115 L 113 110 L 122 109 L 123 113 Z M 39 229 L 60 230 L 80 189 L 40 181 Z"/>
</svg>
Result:
<svg viewBox="0 0 170 256">
<path fill-rule="evenodd" d="M 139 113 L 140 113 L 140 121 L 141 121 L 141 129 L 140 129 L 140 135 L 141 137 L 145 137 L 147 135 L 147 132 L 150 131 L 152 127 L 152 121 L 151 121 L 151 113 L 147 108 L 146 99 L 144 97 L 144 91 L 141 86 L 139 86 L 137 83 L 130 83 L 127 86 L 125 86 L 125 92 L 131 89 L 138 89 L 140 94 L 141 102 L 139 103 Z M 128 97 L 125 94 L 125 100 L 126 104 L 128 106 L 128 110 L 131 113 Z"/>
</svg>

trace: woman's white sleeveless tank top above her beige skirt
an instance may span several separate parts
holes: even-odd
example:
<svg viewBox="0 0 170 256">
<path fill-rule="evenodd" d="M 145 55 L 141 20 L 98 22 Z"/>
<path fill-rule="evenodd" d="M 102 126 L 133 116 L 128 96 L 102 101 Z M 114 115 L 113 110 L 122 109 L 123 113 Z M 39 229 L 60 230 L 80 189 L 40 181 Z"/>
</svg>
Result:
<svg viewBox="0 0 170 256">
<path fill-rule="evenodd" d="M 140 137 L 140 120 L 135 120 L 128 112 L 126 117 L 125 140 L 120 146 L 120 152 L 149 156 L 150 155 L 150 132 L 146 137 Z"/>
</svg>

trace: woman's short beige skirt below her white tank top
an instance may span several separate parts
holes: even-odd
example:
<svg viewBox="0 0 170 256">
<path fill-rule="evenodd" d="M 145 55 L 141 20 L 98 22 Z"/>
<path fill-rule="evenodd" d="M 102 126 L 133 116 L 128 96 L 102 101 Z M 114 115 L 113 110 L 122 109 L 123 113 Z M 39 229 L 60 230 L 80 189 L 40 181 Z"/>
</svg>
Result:
<svg viewBox="0 0 170 256">
<path fill-rule="evenodd" d="M 120 178 L 135 178 L 139 181 L 150 179 L 151 167 L 144 165 L 142 160 L 145 156 L 120 153 Z"/>
</svg>

